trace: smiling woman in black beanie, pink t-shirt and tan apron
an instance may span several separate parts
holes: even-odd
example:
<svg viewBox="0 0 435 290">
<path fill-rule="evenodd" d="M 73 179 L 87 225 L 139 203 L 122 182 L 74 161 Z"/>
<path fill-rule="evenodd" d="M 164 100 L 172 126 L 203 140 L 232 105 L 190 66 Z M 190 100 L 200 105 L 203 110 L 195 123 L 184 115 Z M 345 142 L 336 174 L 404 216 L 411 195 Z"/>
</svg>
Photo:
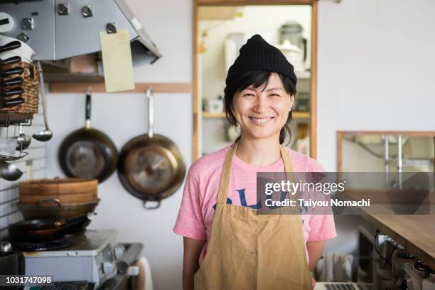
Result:
<svg viewBox="0 0 435 290">
<path fill-rule="evenodd" d="M 311 289 L 331 215 L 256 215 L 257 172 L 323 171 L 285 149 L 296 75 L 255 35 L 228 70 L 225 113 L 235 144 L 189 168 L 174 232 L 184 237 L 183 289 Z"/>
</svg>

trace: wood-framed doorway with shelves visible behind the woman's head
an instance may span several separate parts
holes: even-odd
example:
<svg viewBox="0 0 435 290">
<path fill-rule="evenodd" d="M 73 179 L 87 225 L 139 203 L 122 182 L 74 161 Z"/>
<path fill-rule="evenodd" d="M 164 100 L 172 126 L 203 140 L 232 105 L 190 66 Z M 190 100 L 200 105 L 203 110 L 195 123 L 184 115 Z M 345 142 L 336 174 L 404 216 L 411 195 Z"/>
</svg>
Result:
<svg viewBox="0 0 435 290">
<path fill-rule="evenodd" d="M 225 77 L 254 34 L 279 48 L 298 77 L 287 146 L 316 158 L 317 1 L 193 1 L 193 161 L 231 144 Z"/>
</svg>

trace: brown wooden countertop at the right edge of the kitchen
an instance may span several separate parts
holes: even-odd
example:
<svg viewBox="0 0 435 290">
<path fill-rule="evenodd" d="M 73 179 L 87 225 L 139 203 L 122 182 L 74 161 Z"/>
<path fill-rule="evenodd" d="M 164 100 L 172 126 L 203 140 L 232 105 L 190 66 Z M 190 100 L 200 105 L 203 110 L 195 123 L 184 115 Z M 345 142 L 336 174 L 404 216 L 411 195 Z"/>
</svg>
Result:
<svg viewBox="0 0 435 290">
<path fill-rule="evenodd" d="M 435 215 L 363 215 L 376 230 L 435 269 Z"/>
</svg>

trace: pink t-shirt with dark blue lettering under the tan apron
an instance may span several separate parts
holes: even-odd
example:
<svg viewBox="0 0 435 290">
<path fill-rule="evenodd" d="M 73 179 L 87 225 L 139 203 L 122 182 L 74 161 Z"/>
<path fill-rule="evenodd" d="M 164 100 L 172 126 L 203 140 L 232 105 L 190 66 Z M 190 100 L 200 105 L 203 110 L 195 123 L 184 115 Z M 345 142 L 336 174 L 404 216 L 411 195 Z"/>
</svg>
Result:
<svg viewBox="0 0 435 290">
<path fill-rule="evenodd" d="M 207 154 L 195 161 L 189 168 L 184 185 L 183 200 L 173 231 L 183 237 L 207 240 L 200 254 L 200 262 L 205 257 L 208 241 L 211 237 L 212 220 L 220 183 L 220 175 L 225 154 L 223 149 Z M 287 149 L 294 172 L 323 172 L 322 166 L 307 156 Z M 257 172 L 283 172 L 282 159 L 270 166 L 251 166 L 234 156 L 227 193 L 227 203 L 250 206 L 257 203 Z M 304 240 L 328 240 L 336 236 L 333 215 L 301 215 Z M 308 252 L 307 252 L 308 261 Z"/>
</svg>

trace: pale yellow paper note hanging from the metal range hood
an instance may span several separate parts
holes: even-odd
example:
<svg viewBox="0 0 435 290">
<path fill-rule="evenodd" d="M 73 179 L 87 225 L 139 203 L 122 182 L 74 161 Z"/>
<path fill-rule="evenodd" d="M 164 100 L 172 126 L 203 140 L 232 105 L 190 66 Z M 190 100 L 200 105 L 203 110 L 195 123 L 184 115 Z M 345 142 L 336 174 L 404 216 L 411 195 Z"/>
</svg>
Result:
<svg viewBox="0 0 435 290">
<path fill-rule="evenodd" d="M 134 90 L 129 31 L 100 32 L 106 92 Z"/>
</svg>

